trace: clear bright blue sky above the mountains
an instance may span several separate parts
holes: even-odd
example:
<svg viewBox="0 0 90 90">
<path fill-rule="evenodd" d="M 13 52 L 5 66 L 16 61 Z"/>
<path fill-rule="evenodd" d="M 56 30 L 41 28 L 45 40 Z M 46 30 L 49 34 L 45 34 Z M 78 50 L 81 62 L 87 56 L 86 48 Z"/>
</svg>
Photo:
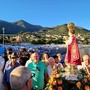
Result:
<svg viewBox="0 0 90 90">
<path fill-rule="evenodd" d="M 73 22 L 90 30 L 90 0 L 0 0 L 0 20 L 43 27 Z"/>
</svg>

